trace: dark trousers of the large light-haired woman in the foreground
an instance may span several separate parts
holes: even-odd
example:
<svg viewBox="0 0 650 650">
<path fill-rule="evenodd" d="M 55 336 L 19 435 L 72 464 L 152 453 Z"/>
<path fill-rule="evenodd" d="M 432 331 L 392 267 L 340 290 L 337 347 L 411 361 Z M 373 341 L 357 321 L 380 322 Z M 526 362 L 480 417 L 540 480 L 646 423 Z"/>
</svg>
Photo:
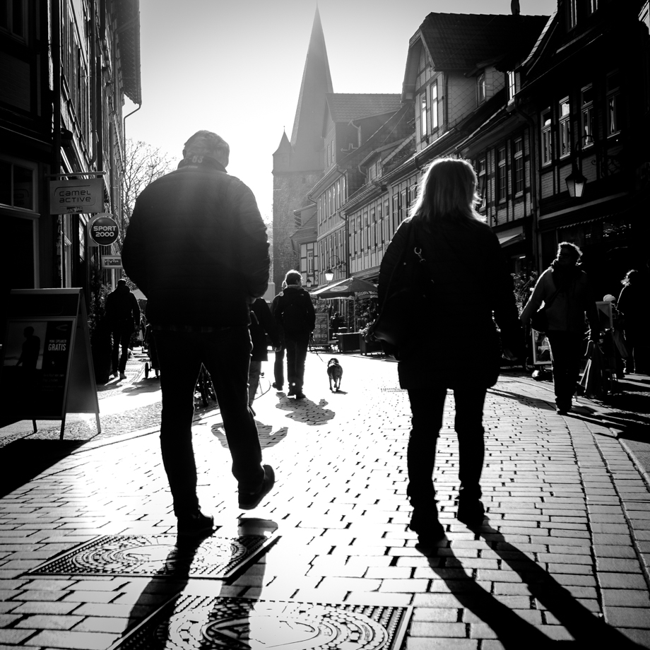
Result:
<svg viewBox="0 0 650 650">
<path fill-rule="evenodd" d="M 454 428 L 459 443 L 460 496 L 480 499 L 480 474 L 483 471 L 485 442 L 483 440 L 483 403 L 485 388 L 454 389 L 456 420 Z M 406 459 L 408 488 L 413 507 L 434 509 L 435 489 L 432 482 L 436 442 L 442 427 L 442 414 L 447 389 L 427 386 L 408 389 L 413 429 L 408 439 Z"/>
</svg>

